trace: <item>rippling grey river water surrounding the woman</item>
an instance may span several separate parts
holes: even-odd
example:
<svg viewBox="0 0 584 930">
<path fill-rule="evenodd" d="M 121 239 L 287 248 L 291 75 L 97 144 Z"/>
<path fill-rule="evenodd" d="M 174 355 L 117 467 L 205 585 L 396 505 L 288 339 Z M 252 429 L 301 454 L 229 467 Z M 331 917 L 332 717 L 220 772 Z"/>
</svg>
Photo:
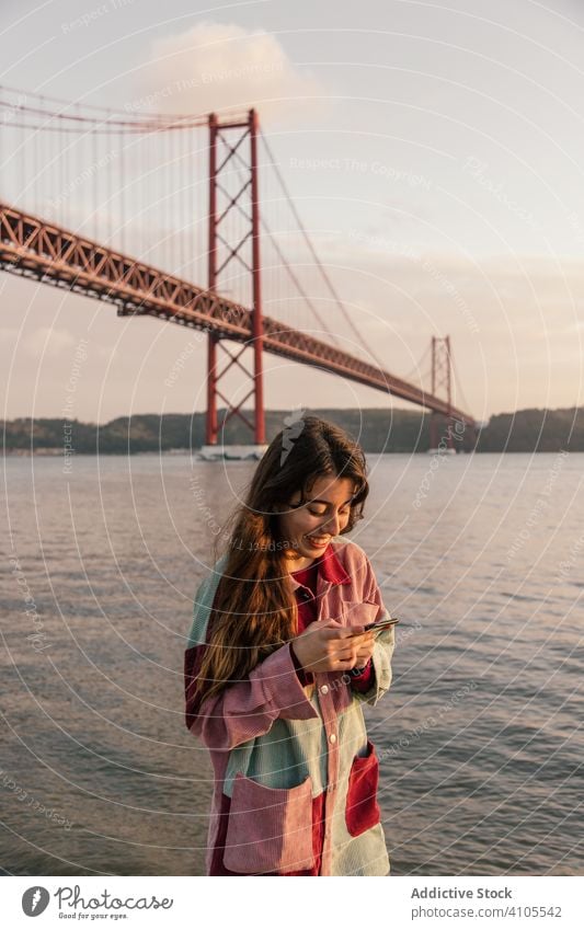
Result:
<svg viewBox="0 0 584 930">
<path fill-rule="evenodd" d="M 392 874 L 584 874 L 584 455 L 368 461 L 352 538 L 402 619 L 366 709 Z M 211 770 L 183 651 L 253 468 L 5 460 L 5 873 L 204 874 Z"/>
</svg>

